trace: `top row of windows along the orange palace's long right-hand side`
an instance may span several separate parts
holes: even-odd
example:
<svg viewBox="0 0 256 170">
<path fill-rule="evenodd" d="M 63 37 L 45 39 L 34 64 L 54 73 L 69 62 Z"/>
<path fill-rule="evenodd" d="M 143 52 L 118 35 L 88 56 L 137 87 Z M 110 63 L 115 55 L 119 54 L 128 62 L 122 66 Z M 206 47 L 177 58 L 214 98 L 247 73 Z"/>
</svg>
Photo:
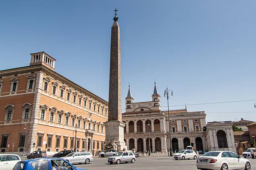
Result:
<svg viewBox="0 0 256 170">
<path fill-rule="evenodd" d="M 44 91 L 49 91 L 49 82 L 50 82 L 50 79 L 48 78 L 45 78 L 44 80 Z M 58 87 L 58 83 L 57 82 L 53 82 L 52 83 L 52 90 L 51 90 L 51 93 L 53 95 L 57 95 L 57 87 Z M 67 92 L 65 92 L 65 87 L 63 85 L 60 86 L 59 88 L 59 97 L 61 98 L 65 98 L 64 97 L 64 93 L 66 93 L 66 100 L 68 101 L 71 101 L 71 90 L 70 89 L 67 89 Z M 72 95 L 72 102 L 78 104 L 78 105 L 81 105 L 82 106 L 82 98 L 83 96 L 82 95 L 79 95 L 79 97 L 77 97 L 77 92 L 73 92 L 73 95 Z M 78 103 L 77 103 L 77 98 L 78 98 Z M 96 110 L 96 102 L 93 103 L 93 110 L 98 113 L 101 112 L 102 115 L 104 115 L 104 107 L 101 107 L 101 110 L 100 110 L 100 105 L 97 105 L 97 110 Z M 84 103 L 83 103 L 83 106 L 84 107 L 87 107 L 87 98 L 84 97 Z M 92 110 L 92 100 L 89 100 L 89 109 Z M 105 109 L 105 116 L 107 116 L 107 109 Z"/>
</svg>

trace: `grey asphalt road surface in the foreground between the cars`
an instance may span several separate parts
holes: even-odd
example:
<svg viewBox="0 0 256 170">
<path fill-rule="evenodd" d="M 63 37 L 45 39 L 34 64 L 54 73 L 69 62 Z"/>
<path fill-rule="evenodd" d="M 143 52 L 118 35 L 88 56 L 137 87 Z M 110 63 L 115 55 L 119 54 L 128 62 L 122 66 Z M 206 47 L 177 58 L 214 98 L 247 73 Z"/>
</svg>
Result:
<svg viewBox="0 0 256 170">
<path fill-rule="evenodd" d="M 251 170 L 256 170 L 256 159 L 250 159 Z M 87 170 L 197 170 L 196 160 L 173 160 L 173 157 L 139 157 L 135 163 L 109 164 L 108 158 L 95 157 L 90 164 L 76 164 Z"/>
</svg>

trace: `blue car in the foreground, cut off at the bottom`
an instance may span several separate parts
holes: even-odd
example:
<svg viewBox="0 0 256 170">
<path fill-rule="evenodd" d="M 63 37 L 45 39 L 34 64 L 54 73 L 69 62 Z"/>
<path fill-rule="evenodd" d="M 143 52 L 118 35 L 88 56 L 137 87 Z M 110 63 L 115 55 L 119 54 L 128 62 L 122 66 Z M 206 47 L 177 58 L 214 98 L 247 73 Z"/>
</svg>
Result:
<svg viewBox="0 0 256 170">
<path fill-rule="evenodd" d="M 76 168 L 62 158 L 42 158 L 23 160 L 16 163 L 13 170 L 85 170 Z"/>
</svg>

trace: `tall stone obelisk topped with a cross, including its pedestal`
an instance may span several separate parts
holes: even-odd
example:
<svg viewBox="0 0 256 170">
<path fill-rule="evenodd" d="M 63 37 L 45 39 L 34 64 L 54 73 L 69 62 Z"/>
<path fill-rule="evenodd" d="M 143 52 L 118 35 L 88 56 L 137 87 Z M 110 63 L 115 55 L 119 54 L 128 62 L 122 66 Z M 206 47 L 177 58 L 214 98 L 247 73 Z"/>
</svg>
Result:
<svg viewBox="0 0 256 170">
<path fill-rule="evenodd" d="M 114 23 L 111 28 L 108 121 L 105 122 L 105 149 L 127 150 L 123 140 L 125 123 L 122 122 L 121 106 L 120 30 L 116 11 L 115 9 Z"/>
</svg>

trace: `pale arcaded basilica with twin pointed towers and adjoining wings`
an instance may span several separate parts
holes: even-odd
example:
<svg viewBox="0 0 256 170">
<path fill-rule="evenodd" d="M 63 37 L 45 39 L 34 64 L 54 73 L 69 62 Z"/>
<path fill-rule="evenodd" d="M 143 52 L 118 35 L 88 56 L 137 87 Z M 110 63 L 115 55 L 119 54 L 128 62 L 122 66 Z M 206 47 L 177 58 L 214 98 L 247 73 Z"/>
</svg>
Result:
<svg viewBox="0 0 256 170">
<path fill-rule="evenodd" d="M 186 149 L 191 143 L 199 153 L 205 150 L 236 150 L 229 123 L 209 122 L 210 131 L 204 131 L 203 127 L 207 126 L 205 111 L 189 112 L 186 107 L 169 110 L 168 115 L 168 111 L 161 110 L 161 96 L 156 84 L 151 97 L 151 101 L 134 102 L 129 86 L 122 115 L 126 123 L 124 138 L 129 150 L 146 152 L 150 146 L 153 152 L 167 152 L 171 143 L 173 152 Z"/>
</svg>

